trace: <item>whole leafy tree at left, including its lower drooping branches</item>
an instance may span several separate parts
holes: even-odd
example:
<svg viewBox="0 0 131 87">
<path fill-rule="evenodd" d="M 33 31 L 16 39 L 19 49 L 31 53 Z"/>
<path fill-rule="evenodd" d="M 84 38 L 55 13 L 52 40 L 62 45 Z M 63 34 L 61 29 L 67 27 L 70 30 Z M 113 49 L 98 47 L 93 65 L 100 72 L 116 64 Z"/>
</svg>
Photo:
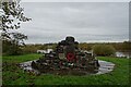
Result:
<svg viewBox="0 0 131 87">
<path fill-rule="evenodd" d="M 7 2 L 0 1 L 0 16 L 2 20 L 0 30 L 2 42 L 7 44 L 8 41 L 8 44 L 13 46 L 13 49 L 9 48 L 9 50 L 17 50 L 20 45 L 24 45 L 24 39 L 27 39 L 27 36 L 24 34 L 14 32 L 20 28 L 21 22 L 31 21 L 31 18 L 24 15 L 23 11 L 24 9 L 20 7 L 20 2 L 16 0 L 13 2 L 10 0 Z"/>
</svg>

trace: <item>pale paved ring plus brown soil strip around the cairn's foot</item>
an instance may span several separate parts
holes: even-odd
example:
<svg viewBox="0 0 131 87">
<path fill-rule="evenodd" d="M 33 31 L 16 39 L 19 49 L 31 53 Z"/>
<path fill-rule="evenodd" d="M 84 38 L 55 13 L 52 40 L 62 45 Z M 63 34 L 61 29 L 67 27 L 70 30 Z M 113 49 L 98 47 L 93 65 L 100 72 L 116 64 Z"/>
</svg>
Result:
<svg viewBox="0 0 131 87">
<path fill-rule="evenodd" d="M 36 60 L 34 60 L 35 62 Z M 23 69 L 23 71 L 28 72 L 28 73 L 33 73 L 35 75 L 39 75 L 39 74 L 55 74 L 55 75 L 98 75 L 98 74 L 106 74 L 109 73 L 114 70 L 115 64 L 111 62 L 107 62 L 107 61 L 102 61 L 98 60 L 99 63 L 99 67 L 98 70 L 96 70 L 95 72 L 90 72 L 91 70 L 79 70 L 79 69 L 63 69 L 63 70 L 45 70 L 46 72 L 39 72 L 38 70 L 35 70 L 32 67 L 32 62 L 33 61 L 27 61 L 27 62 L 23 62 L 20 63 L 21 69 Z"/>
</svg>

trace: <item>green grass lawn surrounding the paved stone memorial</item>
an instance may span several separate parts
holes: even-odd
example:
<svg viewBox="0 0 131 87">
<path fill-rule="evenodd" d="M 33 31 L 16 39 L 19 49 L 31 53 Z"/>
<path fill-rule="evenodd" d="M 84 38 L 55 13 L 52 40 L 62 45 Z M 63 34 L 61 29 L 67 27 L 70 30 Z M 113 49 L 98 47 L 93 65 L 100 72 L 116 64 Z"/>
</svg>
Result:
<svg viewBox="0 0 131 87">
<path fill-rule="evenodd" d="M 17 63 L 38 59 L 40 54 L 3 57 L 3 85 L 129 85 L 129 60 L 98 57 L 116 64 L 115 71 L 103 75 L 59 76 L 34 75 L 19 69 Z"/>
</svg>

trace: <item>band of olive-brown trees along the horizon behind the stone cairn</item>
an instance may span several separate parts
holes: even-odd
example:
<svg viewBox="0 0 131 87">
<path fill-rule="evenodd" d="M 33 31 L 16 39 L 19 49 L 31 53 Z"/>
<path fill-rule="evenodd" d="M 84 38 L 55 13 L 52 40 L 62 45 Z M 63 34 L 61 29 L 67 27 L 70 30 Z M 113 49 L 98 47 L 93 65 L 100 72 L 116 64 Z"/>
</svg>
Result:
<svg viewBox="0 0 131 87">
<path fill-rule="evenodd" d="M 28 44 L 24 46 L 16 46 L 10 41 L 2 41 L 3 54 L 25 54 L 25 53 L 36 53 L 37 50 L 47 50 L 55 49 L 57 44 Z M 112 53 L 115 51 L 131 51 L 131 42 L 95 42 L 87 44 L 81 42 L 79 48 L 82 50 L 95 50 L 96 52 L 108 51 L 108 53 Z M 103 54 L 102 54 L 103 55 Z M 108 54 L 107 54 L 108 55 Z"/>
</svg>

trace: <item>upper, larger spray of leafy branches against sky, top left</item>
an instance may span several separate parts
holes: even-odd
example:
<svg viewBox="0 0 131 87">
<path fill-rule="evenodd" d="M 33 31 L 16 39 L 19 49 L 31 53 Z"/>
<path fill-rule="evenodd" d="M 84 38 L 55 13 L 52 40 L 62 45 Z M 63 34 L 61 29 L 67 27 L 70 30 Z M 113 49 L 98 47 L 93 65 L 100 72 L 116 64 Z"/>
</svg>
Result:
<svg viewBox="0 0 131 87">
<path fill-rule="evenodd" d="M 1 12 L 2 12 L 1 30 L 2 30 L 2 37 L 4 39 L 11 39 L 12 33 L 10 33 L 10 30 L 20 28 L 21 22 L 31 21 L 31 18 L 24 16 L 23 11 L 24 9 L 20 7 L 20 2 L 17 1 L 1 2 Z"/>
</svg>

